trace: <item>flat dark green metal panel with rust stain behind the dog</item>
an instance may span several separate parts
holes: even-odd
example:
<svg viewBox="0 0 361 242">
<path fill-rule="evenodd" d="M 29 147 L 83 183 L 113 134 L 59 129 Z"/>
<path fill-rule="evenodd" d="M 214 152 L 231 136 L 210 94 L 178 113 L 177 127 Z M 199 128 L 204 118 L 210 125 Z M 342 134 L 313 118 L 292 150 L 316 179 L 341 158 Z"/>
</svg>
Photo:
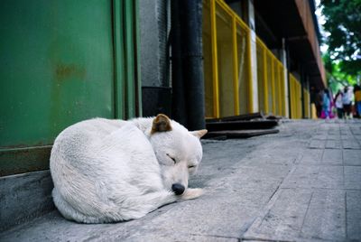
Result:
<svg viewBox="0 0 361 242">
<path fill-rule="evenodd" d="M 111 1 L 1 1 L 0 147 L 114 117 L 112 26 Z"/>
</svg>

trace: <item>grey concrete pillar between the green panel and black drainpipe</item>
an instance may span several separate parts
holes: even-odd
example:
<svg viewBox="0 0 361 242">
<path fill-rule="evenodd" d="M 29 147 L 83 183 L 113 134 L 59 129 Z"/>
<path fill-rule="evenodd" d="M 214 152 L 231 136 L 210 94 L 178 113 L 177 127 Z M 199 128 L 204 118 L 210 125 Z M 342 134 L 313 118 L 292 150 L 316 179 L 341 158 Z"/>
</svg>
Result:
<svg viewBox="0 0 361 242">
<path fill-rule="evenodd" d="M 168 39 L 171 1 L 139 0 L 143 116 L 171 116 Z"/>
</svg>

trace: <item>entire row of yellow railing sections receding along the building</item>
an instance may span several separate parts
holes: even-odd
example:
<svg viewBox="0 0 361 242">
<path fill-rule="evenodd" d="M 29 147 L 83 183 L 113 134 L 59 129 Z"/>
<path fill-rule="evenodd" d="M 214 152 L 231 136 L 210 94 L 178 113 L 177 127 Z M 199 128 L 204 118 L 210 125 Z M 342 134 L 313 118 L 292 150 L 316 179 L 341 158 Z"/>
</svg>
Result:
<svg viewBox="0 0 361 242">
<path fill-rule="evenodd" d="M 255 44 L 259 110 L 253 110 L 251 30 L 223 0 L 203 0 L 206 117 L 255 111 L 286 116 L 287 70 L 258 37 Z M 301 118 L 300 82 L 290 75 L 289 85 L 290 115 Z"/>
</svg>

